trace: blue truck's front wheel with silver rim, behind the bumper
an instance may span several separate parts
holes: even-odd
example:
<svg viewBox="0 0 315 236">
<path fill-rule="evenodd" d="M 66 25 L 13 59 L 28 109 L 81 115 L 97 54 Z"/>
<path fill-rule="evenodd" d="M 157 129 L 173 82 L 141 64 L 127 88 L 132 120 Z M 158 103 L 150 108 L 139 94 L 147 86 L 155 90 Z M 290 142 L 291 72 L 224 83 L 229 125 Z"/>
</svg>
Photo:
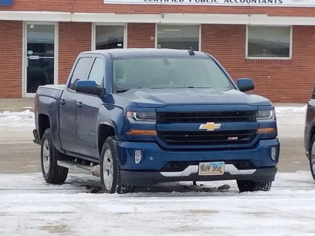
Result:
<svg viewBox="0 0 315 236">
<path fill-rule="evenodd" d="M 123 185 L 114 137 L 108 137 L 103 145 L 100 157 L 100 178 L 105 193 L 130 193 L 134 186 Z"/>
</svg>

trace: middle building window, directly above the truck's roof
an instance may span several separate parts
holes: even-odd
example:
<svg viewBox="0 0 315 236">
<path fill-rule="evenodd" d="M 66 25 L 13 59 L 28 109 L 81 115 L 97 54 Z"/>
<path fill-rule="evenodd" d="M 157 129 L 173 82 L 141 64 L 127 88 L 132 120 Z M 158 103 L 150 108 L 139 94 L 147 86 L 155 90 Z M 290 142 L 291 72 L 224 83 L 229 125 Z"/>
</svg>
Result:
<svg viewBox="0 0 315 236">
<path fill-rule="evenodd" d="M 157 48 L 199 50 L 199 26 L 158 25 Z"/>
</svg>

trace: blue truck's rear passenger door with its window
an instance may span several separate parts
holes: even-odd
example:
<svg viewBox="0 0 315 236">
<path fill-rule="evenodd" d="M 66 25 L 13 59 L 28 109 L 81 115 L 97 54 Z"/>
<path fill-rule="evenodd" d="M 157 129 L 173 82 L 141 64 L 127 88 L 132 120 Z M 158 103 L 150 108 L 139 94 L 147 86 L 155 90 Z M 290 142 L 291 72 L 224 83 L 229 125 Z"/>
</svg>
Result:
<svg viewBox="0 0 315 236">
<path fill-rule="evenodd" d="M 81 57 L 77 60 L 71 79 L 63 91 L 59 106 L 59 136 L 62 148 L 79 153 L 77 138 L 77 108 L 80 94 L 75 92 L 75 83 L 84 80 L 91 66 L 92 57 Z"/>
</svg>

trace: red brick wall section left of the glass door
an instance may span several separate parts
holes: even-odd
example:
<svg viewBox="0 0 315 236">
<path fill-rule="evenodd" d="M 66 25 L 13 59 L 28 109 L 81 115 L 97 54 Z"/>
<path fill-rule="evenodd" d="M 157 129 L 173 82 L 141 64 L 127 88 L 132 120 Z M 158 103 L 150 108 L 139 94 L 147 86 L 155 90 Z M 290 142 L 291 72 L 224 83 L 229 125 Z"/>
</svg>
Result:
<svg viewBox="0 0 315 236">
<path fill-rule="evenodd" d="M 0 21 L 0 97 L 22 94 L 22 22 Z"/>
</svg>

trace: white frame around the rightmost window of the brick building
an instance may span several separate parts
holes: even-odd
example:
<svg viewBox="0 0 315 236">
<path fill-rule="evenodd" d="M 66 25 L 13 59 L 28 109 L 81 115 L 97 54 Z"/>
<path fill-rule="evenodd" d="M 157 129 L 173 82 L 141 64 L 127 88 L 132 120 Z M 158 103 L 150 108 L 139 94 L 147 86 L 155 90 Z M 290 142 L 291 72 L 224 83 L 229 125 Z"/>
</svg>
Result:
<svg viewBox="0 0 315 236">
<path fill-rule="evenodd" d="M 261 26 L 261 27 L 290 27 L 290 49 L 289 57 L 249 57 L 248 56 L 248 41 L 249 41 L 249 26 Z M 273 26 L 273 25 L 246 25 L 246 45 L 245 45 L 245 57 L 246 59 L 262 59 L 262 60 L 291 60 L 293 51 L 293 30 L 292 26 Z"/>
</svg>

